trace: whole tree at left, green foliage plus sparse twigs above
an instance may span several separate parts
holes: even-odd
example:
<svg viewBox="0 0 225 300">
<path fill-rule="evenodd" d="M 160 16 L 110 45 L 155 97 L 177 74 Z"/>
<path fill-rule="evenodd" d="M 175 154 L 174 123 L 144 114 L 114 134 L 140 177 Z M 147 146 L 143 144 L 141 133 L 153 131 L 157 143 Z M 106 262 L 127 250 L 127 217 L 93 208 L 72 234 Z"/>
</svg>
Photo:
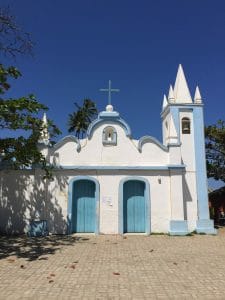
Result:
<svg viewBox="0 0 225 300">
<path fill-rule="evenodd" d="M 32 49 L 33 42 L 29 33 L 17 24 L 8 8 L 0 7 L 0 55 L 15 60 L 18 55 L 32 54 Z M 18 99 L 5 98 L 12 79 L 20 76 L 16 67 L 0 64 L 1 166 L 23 169 L 40 165 L 45 170 L 45 176 L 51 177 L 51 166 L 38 148 L 41 131 L 44 129 L 39 116 L 48 108 L 32 94 Z M 48 130 L 51 138 L 60 133 L 50 120 Z"/>
</svg>

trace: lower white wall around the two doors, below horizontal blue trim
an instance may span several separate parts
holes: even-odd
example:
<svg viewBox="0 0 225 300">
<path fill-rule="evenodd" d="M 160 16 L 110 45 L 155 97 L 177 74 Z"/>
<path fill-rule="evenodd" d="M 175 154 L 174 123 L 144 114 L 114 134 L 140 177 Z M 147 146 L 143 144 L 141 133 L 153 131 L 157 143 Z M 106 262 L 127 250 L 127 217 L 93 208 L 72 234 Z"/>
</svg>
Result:
<svg viewBox="0 0 225 300">
<path fill-rule="evenodd" d="M 67 232 L 68 185 L 75 176 L 92 176 L 100 184 L 99 231 L 119 232 L 119 185 L 126 177 L 144 178 L 150 186 L 151 232 L 169 231 L 169 171 L 56 171 L 43 181 L 40 171 L 1 171 L 0 232 L 23 233 L 32 219 L 48 221 L 51 233 Z M 182 199 L 181 199 L 182 201 Z"/>
</svg>

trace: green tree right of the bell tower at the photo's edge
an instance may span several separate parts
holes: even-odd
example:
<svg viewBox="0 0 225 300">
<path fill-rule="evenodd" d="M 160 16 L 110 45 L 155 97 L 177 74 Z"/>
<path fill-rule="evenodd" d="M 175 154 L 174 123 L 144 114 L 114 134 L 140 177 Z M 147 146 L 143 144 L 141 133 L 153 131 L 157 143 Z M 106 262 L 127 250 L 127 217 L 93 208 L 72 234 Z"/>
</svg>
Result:
<svg viewBox="0 0 225 300">
<path fill-rule="evenodd" d="M 207 175 L 225 182 L 225 121 L 205 128 Z"/>
</svg>

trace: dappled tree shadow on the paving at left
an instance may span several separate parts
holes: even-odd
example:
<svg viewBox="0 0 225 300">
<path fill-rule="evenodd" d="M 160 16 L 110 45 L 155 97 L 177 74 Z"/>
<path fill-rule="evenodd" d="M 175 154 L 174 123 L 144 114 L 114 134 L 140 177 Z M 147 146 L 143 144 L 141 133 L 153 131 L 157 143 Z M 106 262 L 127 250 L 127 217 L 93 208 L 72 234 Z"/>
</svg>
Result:
<svg viewBox="0 0 225 300">
<path fill-rule="evenodd" d="M 55 254 L 64 246 L 73 246 L 77 242 L 88 241 L 87 237 L 52 235 L 30 238 L 23 236 L 0 236 L 0 259 L 9 256 L 24 258 L 28 261 L 47 260 L 47 255 Z"/>
</svg>

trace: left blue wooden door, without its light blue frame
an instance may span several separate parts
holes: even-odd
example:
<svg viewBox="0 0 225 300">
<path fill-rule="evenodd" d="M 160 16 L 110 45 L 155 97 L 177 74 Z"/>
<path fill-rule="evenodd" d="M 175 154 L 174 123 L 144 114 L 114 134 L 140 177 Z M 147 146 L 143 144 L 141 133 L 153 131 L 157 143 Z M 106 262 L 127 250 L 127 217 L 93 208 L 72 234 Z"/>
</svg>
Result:
<svg viewBox="0 0 225 300">
<path fill-rule="evenodd" d="M 78 180 L 73 186 L 73 232 L 95 232 L 95 183 Z"/>
</svg>

